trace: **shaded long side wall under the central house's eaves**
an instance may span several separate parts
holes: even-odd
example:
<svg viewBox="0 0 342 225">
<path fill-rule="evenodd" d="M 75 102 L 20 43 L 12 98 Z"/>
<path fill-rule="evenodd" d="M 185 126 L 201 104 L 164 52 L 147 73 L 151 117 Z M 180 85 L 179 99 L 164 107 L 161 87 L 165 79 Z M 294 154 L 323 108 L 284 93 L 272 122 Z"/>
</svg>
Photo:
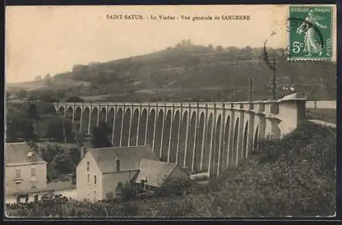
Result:
<svg viewBox="0 0 342 225">
<path fill-rule="evenodd" d="M 103 174 L 103 196 L 101 196 L 101 198 L 106 199 L 107 193 L 113 193 L 113 196 L 115 197 L 118 183 L 121 182 L 124 186 L 124 184 L 136 176 L 138 172 L 139 170 Z"/>
</svg>

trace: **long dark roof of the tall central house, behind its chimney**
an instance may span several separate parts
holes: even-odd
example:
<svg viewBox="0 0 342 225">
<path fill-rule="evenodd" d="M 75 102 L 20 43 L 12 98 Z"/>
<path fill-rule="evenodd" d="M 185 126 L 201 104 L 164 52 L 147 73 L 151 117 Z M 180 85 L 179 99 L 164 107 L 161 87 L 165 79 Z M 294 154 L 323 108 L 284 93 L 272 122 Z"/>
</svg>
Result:
<svg viewBox="0 0 342 225">
<path fill-rule="evenodd" d="M 89 151 L 103 173 L 116 172 L 117 156 L 120 159 L 120 171 L 139 170 L 141 159 L 159 161 L 150 146 L 90 148 Z"/>
</svg>

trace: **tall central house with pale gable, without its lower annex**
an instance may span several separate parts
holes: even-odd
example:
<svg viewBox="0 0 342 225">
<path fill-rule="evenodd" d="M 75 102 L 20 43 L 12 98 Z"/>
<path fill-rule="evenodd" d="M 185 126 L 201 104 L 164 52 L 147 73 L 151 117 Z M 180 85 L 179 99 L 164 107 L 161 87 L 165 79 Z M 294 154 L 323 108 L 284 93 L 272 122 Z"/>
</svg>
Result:
<svg viewBox="0 0 342 225">
<path fill-rule="evenodd" d="M 120 194 L 120 187 L 137 176 L 141 159 L 159 160 L 150 146 L 88 149 L 76 169 L 77 200 L 96 202 Z"/>
</svg>

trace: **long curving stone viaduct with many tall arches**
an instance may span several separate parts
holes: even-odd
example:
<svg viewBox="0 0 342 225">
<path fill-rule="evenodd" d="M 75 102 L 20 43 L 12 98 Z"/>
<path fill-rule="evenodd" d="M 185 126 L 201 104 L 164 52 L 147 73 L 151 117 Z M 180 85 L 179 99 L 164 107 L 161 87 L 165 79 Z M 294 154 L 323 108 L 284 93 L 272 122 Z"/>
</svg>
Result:
<svg viewBox="0 0 342 225">
<path fill-rule="evenodd" d="M 113 146 L 149 144 L 162 161 L 218 176 L 248 157 L 265 137 L 282 138 L 305 120 L 306 100 L 234 103 L 54 103 L 58 114 L 90 133 L 111 127 Z"/>
</svg>

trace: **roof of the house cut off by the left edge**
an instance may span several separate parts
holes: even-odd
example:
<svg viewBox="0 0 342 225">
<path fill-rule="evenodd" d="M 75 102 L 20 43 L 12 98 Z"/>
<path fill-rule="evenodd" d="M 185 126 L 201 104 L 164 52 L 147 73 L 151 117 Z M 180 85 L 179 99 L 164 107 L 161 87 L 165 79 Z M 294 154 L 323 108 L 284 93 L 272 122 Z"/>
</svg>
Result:
<svg viewBox="0 0 342 225">
<path fill-rule="evenodd" d="M 29 154 L 30 153 L 30 154 Z M 32 154 L 32 155 L 31 155 Z M 31 155 L 31 157 L 28 157 Z M 27 164 L 27 163 L 44 163 L 45 161 L 27 145 L 25 142 L 6 143 L 5 147 L 5 163 L 8 164 Z M 46 162 L 45 162 L 46 163 Z"/>
</svg>

